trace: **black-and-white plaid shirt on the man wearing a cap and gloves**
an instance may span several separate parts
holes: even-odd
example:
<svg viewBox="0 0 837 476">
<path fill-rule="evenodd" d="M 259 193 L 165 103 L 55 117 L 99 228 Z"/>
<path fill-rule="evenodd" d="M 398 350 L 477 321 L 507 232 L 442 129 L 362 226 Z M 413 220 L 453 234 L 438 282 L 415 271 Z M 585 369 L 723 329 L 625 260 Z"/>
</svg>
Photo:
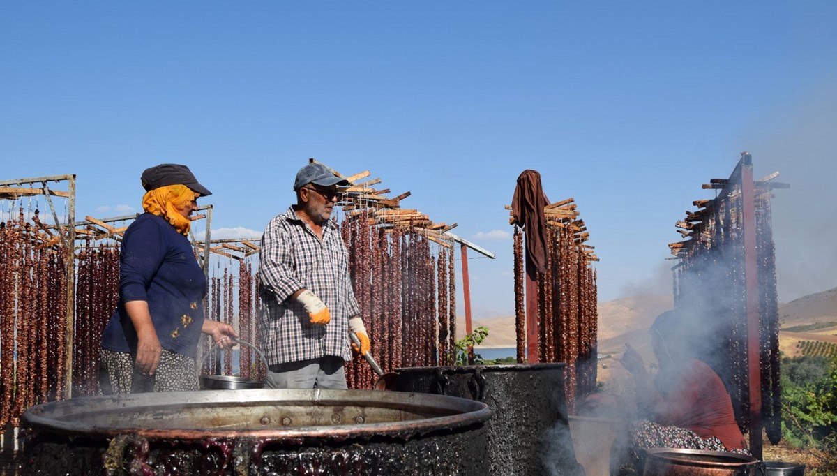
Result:
<svg viewBox="0 0 837 476">
<path fill-rule="evenodd" d="M 302 304 L 288 299 L 302 287 L 326 304 L 330 323 L 312 325 Z M 269 365 L 324 355 L 352 358 L 348 322 L 361 311 L 349 277 L 348 251 L 333 221 L 323 224 L 320 241 L 293 207 L 270 220 L 259 253 L 259 296 L 260 344 Z"/>
</svg>

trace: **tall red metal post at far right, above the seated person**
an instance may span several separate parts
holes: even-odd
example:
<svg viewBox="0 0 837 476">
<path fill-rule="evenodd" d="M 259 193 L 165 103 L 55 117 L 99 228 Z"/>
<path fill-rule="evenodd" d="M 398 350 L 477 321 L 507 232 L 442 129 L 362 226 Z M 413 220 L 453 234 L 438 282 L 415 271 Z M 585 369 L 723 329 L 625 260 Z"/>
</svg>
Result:
<svg viewBox="0 0 837 476">
<path fill-rule="evenodd" d="M 762 371 L 758 318 L 758 263 L 756 254 L 756 191 L 752 157 L 742 153 L 741 194 L 744 213 L 744 287 L 747 296 L 747 374 L 750 394 L 750 453 L 762 459 Z"/>
</svg>

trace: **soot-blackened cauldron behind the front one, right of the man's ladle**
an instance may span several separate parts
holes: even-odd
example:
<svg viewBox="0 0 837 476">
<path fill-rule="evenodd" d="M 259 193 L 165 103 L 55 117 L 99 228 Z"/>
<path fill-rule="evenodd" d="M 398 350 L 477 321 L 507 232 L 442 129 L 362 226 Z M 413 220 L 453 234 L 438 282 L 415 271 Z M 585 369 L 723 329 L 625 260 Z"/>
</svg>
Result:
<svg viewBox="0 0 837 476">
<path fill-rule="evenodd" d="M 408 367 L 398 391 L 458 396 L 488 404 L 490 474 L 583 475 L 564 401 L 563 363 Z"/>
</svg>

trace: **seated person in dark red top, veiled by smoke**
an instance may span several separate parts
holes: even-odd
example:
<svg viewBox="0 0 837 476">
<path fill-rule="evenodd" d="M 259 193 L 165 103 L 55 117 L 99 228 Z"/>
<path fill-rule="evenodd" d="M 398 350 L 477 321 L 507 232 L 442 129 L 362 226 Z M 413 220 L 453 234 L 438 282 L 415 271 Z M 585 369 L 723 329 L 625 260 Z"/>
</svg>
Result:
<svg viewBox="0 0 837 476">
<path fill-rule="evenodd" d="M 621 362 L 634 375 L 637 405 L 647 418 L 634 427 L 634 446 L 749 454 L 727 388 L 709 365 L 686 357 L 681 324 L 668 312 L 651 326 L 659 364 L 654 379 L 636 350 L 629 345 L 625 349 Z"/>
</svg>

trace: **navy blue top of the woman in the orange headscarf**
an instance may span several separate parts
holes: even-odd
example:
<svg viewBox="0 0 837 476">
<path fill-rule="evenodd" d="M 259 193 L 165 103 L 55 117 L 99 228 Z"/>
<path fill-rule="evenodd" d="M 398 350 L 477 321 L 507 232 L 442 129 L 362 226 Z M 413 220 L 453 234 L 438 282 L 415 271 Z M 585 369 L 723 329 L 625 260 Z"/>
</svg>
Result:
<svg viewBox="0 0 837 476">
<path fill-rule="evenodd" d="M 119 306 L 105 326 L 102 348 L 136 353 L 136 329 L 125 303 L 146 301 L 162 348 L 194 358 L 207 279 L 186 236 L 162 217 L 142 214 L 122 238 L 120 264 Z"/>
</svg>

